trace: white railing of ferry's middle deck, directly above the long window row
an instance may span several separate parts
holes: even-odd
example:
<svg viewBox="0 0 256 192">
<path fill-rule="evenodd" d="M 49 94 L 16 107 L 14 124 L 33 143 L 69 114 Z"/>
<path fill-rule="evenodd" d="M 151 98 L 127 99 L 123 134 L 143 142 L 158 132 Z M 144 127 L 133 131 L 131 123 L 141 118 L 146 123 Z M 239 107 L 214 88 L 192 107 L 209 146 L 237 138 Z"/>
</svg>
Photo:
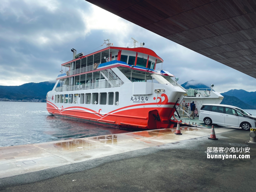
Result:
<svg viewBox="0 0 256 192">
<path fill-rule="evenodd" d="M 55 91 L 73 91 L 73 90 L 85 90 L 85 89 L 100 89 L 110 87 L 120 87 L 124 82 L 121 79 L 114 79 L 109 81 L 99 81 L 94 83 L 84 83 L 80 85 L 65 85 L 62 87 L 56 87 Z"/>
</svg>

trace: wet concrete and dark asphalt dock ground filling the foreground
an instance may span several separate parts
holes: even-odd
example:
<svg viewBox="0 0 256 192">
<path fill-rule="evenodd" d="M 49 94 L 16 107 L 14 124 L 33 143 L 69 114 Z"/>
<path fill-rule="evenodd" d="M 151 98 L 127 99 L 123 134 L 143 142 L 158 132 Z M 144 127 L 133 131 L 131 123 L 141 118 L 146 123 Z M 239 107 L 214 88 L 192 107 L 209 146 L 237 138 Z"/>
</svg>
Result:
<svg viewBox="0 0 256 192">
<path fill-rule="evenodd" d="M 246 173 L 255 169 L 256 145 L 249 146 L 250 159 L 207 159 L 205 153 L 245 144 L 249 132 L 216 128 L 219 140 L 213 141 L 210 131 L 182 127 L 183 135 L 161 129 L 3 147 L 0 190 L 236 191 L 228 182 L 238 181 L 249 190 L 255 177 Z"/>
</svg>

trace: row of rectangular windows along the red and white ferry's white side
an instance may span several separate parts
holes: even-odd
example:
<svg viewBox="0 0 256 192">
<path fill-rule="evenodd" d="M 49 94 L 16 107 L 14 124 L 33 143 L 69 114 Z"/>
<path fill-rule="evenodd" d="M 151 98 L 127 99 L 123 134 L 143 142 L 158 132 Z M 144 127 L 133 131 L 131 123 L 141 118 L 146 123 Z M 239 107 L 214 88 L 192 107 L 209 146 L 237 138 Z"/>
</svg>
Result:
<svg viewBox="0 0 256 192">
<path fill-rule="evenodd" d="M 100 96 L 100 97 L 99 97 Z M 107 97 L 108 96 L 108 97 Z M 119 92 L 109 93 L 81 93 L 81 94 L 62 94 L 55 95 L 55 103 L 80 103 L 80 104 L 93 104 L 97 105 L 118 105 Z"/>
</svg>

